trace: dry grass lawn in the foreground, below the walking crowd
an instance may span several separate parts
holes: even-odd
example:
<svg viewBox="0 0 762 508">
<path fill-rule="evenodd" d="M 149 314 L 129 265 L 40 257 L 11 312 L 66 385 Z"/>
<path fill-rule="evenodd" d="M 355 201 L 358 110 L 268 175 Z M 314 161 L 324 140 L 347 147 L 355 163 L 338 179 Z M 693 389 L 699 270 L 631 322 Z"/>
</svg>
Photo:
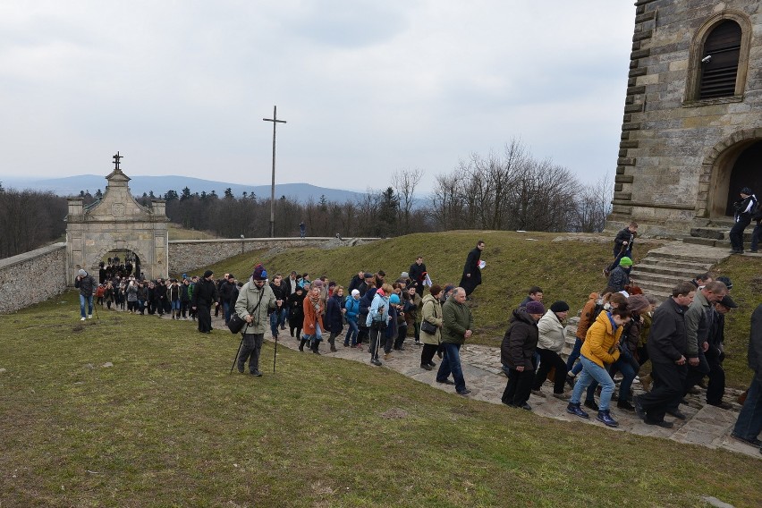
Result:
<svg viewBox="0 0 762 508">
<path fill-rule="evenodd" d="M 369 259 L 345 265 L 393 268 Z M 760 462 L 748 456 L 543 419 L 284 348 L 273 376 L 269 343 L 265 377 L 229 375 L 233 334 L 99 315 L 80 323 L 68 292 L 0 317 L 0 505 L 758 505 Z"/>
</svg>

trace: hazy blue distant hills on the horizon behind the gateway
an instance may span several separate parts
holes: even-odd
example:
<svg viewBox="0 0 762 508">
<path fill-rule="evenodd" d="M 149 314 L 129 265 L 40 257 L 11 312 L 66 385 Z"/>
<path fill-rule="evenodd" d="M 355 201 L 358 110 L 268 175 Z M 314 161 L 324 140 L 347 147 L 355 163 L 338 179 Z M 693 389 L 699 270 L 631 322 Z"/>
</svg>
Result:
<svg viewBox="0 0 762 508">
<path fill-rule="evenodd" d="M 215 182 L 204 180 L 202 178 L 190 178 L 188 176 L 131 176 L 130 190 L 135 196 L 142 196 L 144 192 L 154 191 L 154 194 L 164 196 L 167 190 L 176 190 L 178 194 L 184 187 L 188 187 L 190 192 L 196 193 L 214 190 L 218 196 L 224 194 L 228 187 L 233 191 L 233 196 L 241 197 L 243 192 L 254 192 L 258 198 L 269 199 L 269 185 L 241 185 L 240 183 Z M 95 194 L 96 190 L 106 190 L 106 178 L 98 174 L 80 174 L 76 176 L 66 176 L 63 178 L 49 178 L 42 180 L 23 179 L 15 177 L 0 177 L 0 182 L 6 189 L 31 189 L 31 190 L 51 190 L 59 196 L 79 195 L 80 190 L 89 190 Z M 281 196 L 295 199 L 301 203 L 306 203 L 310 198 L 318 201 L 320 196 L 326 196 L 329 201 L 344 203 L 354 201 L 363 194 L 351 190 L 326 189 L 310 185 L 309 183 L 281 183 L 275 184 L 275 199 Z"/>
</svg>

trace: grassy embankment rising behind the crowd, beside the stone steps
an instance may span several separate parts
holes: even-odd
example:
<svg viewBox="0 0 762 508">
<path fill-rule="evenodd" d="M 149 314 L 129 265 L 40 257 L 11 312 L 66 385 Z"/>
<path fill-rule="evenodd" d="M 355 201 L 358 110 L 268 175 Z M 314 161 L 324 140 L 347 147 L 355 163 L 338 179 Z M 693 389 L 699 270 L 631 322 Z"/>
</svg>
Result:
<svg viewBox="0 0 762 508">
<path fill-rule="evenodd" d="M 478 239 L 486 242 L 482 259 L 484 283 L 473 294 L 471 308 L 476 333 L 472 343 L 499 346 L 512 309 L 524 299 L 533 285 L 545 292 L 546 305 L 567 301 L 572 315 L 588 300 L 590 292 L 605 287 L 601 268 L 611 261 L 611 243 L 595 241 L 553 241 L 555 233 L 447 232 L 411 234 L 358 247 L 334 250 L 287 250 L 265 257 L 263 251 L 226 259 L 213 266 L 216 276 L 231 272 L 239 277 L 251 274 L 252 267 L 263 261 L 267 272 L 287 275 L 292 270 L 309 272 L 313 278 L 326 275 L 338 284 L 349 284 L 360 269 L 375 272 L 383 269 L 394 281 L 407 271 L 420 254 L 436 284 L 459 284 L 463 263 Z M 654 244 L 639 241 L 636 262 L 644 258 Z M 727 318 L 724 366 L 728 385 L 746 388 L 751 371 L 746 363 L 749 343 L 749 319 L 760 302 L 762 259 L 732 257 L 716 270 L 733 281 L 732 296 L 739 303 Z M 686 274 L 686 279 L 695 274 Z"/>
</svg>

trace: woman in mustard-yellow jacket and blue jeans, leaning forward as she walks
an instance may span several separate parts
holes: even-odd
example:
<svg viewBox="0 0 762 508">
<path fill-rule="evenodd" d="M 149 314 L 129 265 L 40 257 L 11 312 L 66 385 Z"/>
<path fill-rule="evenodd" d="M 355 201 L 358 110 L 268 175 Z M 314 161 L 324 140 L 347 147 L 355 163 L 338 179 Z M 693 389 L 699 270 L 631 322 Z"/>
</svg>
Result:
<svg viewBox="0 0 762 508">
<path fill-rule="evenodd" d="M 589 327 L 585 343 L 582 344 L 580 351 L 582 372 L 574 385 L 572 399 L 566 406 L 566 412 L 580 418 L 589 418 L 588 413 L 580 408 L 580 398 L 582 392 L 595 380 L 601 385 L 597 420 L 608 427 L 619 427 L 619 423 L 611 418 L 608 410 L 611 395 L 614 394 L 614 380 L 608 375 L 605 367 L 619 358 L 619 336 L 622 335 L 624 324 L 628 321 L 630 321 L 630 311 L 624 304 L 618 309 L 601 312 L 596 322 Z"/>
</svg>

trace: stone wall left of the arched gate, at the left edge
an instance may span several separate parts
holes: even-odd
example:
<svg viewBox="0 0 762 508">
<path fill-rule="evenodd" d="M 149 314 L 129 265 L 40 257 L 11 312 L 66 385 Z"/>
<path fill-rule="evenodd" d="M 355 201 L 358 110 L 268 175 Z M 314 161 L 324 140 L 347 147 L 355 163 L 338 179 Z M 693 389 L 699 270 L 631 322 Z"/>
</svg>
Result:
<svg viewBox="0 0 762 508">
<path fill-rule="evenodd" d="M 63 241 L 0 259 L 0 313 L 46 301 L 66 291 L 68 282 Z"/>
</svg>

